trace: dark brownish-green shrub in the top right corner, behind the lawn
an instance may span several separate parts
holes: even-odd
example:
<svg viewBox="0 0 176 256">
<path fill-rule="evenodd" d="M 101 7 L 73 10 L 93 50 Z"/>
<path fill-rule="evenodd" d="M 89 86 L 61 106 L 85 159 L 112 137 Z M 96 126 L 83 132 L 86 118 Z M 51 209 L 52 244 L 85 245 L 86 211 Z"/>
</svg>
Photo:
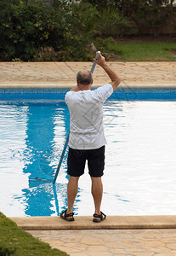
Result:
<svg viewBox="0 0 176 256">
<path fill-rule="evenodd" d="M 137 34 L 159 35 L 164 33 L 163 27 L 171 15 L 175 15 L 175 8 L 168 0 L 120 0 L 116 7 L 122 17 L 128 17 L 133 24 L 133 31 Z"/>
</svg>

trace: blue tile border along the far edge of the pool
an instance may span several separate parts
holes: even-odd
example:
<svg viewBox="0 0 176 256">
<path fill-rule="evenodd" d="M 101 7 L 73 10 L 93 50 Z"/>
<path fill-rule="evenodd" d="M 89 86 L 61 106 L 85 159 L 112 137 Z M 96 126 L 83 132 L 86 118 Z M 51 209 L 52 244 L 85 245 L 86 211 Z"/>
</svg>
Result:
<svg viewBox="0 0 176 256">
<path fill-rule="evenodd" d="M 0 89 L 0 101 L 65 100 L 70 89 Z M 176 101 L 176 88 L 118 88 L 109 98 L 117 101 Z"/>
</svg>

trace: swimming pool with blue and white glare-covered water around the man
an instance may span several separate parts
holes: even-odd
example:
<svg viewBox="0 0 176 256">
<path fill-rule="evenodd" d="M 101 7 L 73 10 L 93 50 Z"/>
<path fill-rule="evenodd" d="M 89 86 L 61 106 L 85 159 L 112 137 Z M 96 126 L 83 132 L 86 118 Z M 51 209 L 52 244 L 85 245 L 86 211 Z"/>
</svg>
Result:
<svg viewBox="0 0 176 256">
<path fill-rule="evenodd" d="M 175 92 L 164 101 L 159 94 L 156 98 L 145 92 L 140 91 L 139 97 L 131 91 L 105 103 L 108 144 L 102 211 L 108 215 L 176 211 Z M 59 215 L 67 205 L 66 158 L 55 185 L 29 177 L 54 173 L 69 130 L 68 109 L 55 94 L 49 100 L 48 96 L 29 100 L 31 93 L 28 98 L 24 91 L 18 91 L 20 96 L 10 93 L 9 97 L 6 91 L 0 102 L 0 210 L 7 216 Z M 93 209 L 86 172 L 80 178 L 74 211 L 92 215 Z"/>
</svg>

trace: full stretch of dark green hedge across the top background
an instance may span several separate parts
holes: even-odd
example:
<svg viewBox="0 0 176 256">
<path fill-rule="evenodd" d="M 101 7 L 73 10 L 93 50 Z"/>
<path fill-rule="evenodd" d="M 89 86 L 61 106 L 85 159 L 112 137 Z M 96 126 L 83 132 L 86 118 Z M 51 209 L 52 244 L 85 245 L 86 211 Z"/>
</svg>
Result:
<svg viewBox="0 0 176 256">
<path fill-rule="evenodd" d="M 0 61 L 92 61 L 97 38 L 160 33 L 176 14 L 164 2 L 0 0 Z"/>
</svg>

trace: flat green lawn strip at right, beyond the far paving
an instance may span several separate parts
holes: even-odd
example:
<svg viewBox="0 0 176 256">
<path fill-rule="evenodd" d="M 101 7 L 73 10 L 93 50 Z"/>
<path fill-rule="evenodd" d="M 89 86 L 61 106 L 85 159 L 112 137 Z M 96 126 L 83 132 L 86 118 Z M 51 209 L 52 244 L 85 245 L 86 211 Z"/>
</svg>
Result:
<svg viewBox="0 0 176 256">
<path fill-rule="evenodd" d="M 176 61 L 174 43 L 112 43 L 108 49 L 116 61 Z"/>
</svg>

